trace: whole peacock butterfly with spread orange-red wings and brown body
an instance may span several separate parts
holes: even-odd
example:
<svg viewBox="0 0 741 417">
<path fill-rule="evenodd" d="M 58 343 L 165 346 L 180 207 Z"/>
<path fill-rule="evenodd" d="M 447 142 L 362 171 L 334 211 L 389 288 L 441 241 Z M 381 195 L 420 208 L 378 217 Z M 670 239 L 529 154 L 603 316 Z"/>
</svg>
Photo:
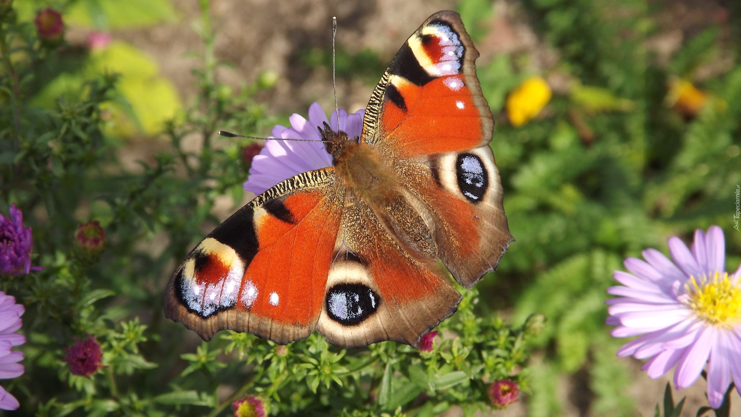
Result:
<svg viewBox="0 0 741 417">
<path fill-rule="evenodd" d="M 319 330 L 342 347 L 416 346 L 510 242 L 489 147 L 494 119 L 460 16 L 433 14 L 371 94 L 362 135 L 321 130 L 333 164 L 276 184 L 177 268 L 165 315 L 287 344 Z"/>
</svg>

